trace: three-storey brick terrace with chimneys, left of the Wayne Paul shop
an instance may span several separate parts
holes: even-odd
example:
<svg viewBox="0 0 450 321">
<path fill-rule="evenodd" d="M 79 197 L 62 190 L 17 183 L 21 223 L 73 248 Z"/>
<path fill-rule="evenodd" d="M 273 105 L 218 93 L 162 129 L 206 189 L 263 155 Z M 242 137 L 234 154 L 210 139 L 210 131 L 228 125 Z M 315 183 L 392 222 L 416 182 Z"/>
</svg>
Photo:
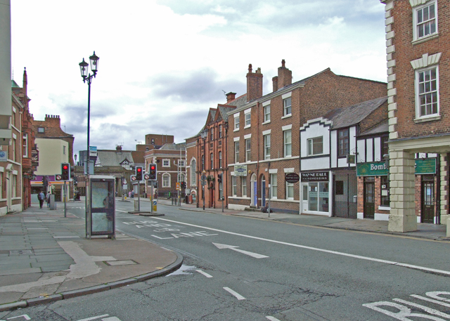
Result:
<svg viewBox="0 0 450 321">
<path fill-rule="evenodd" d="M 285 173 L 300 173 L 300 126 L 329 110 L 386 96 L 386 84 L 334 74 L 329 68 L 292 82 L 285 61 L 262 95 L 262 73 L 247 74 L 246 103 L 229 112 L 229 208 L 265 207 L 299 212 L 300 185 Z M 269 188 L 270 185 L 270 188 Z"/>
</svg>

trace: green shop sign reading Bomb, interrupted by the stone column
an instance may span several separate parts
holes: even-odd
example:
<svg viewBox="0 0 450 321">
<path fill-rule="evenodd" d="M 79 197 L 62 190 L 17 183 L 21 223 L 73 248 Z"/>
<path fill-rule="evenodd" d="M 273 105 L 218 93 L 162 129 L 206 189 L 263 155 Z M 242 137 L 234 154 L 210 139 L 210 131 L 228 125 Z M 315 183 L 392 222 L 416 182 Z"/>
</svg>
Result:
<svg viewBox="0 0 450 321">
<path fill-rule="evenodd" d="M 416 159 L 416 174 L 436 173 L 436 159 Z M 385 162 L 360 163 L 356 166 L 356 176 L 385 176 L 389 175 L 389 169 Z"/>
</svg>

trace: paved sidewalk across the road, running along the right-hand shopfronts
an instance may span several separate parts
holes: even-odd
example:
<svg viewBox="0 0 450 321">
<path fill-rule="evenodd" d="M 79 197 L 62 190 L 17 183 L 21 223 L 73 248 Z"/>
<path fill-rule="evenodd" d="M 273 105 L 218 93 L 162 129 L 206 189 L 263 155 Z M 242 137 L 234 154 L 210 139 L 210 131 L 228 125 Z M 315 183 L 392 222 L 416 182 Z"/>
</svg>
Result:
<svg viewBox="0 0 450 321">
<path fill-rule="evenodd" d="M 147 199 L 146 199 L 147 200 Z M 158 199 L 160 204 L 171 205 L 172 201 L 169 199 Z M 186 211 L 204 211 L 203 204 L 201 207 L 196 204 L 181 203 L 181 209 Z M 217 209 L 205 208 L 205 212 L 222 214 L 221 204 Z M 354 218 L 339 218 L 317 215 L 299 215 L 286 213 L 262 213 L 262 211 L 233 211 L 224 209 L 223 214 L 234 216 L 245 216 L 251 218 L 259 218 L 273 221 L 281 221 L 285 223 L 294 223 L 298 225 L 317 226 L 323 228 L 338 228 L 342 230 L 358 230 L 365 232 L 380 232 L 390 235 L 403 235 L 408 237 L 425 238 L 429 240 L 450 241 L 450 237 L 446 237 L 446 225 L 437 224 L 423 224 L 418 223 L 418 230 L 414 232 L 390 232 L 387 230 L 387 221 L 374 221 L 372 219 L 354 219 Z"/>
</svg>

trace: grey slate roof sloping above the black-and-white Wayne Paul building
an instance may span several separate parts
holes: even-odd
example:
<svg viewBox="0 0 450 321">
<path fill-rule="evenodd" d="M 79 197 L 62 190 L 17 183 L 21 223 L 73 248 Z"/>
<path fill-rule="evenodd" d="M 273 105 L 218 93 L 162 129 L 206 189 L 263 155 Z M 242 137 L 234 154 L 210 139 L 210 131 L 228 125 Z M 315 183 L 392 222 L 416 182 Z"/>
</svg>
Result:
<svg viewBox="0 0 450 321">
<path fill-rule="evenodd" d="M 387 101 L 387 97 L 367 100 L 363 103 L 330 110 L 323 116 L 333 122 L 332 129 L 339 129 L 358 124 L 366 118 L 371 112 Z"/>
</svg>

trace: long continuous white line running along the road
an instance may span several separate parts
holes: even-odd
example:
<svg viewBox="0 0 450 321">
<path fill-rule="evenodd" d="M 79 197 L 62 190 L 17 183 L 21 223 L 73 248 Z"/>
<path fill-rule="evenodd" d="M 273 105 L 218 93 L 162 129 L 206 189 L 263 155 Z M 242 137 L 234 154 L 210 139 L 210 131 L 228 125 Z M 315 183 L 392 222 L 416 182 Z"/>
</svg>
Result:
<svg viewBox="0 0 450 321">
<path fill-rule="evenodd" d="M 413 266 L 412 264 L 395 262 L 395 261 L 387 261 L 387 260 L 382 260 L 380 258 L 371 258 L 371 257 L 368 257 L 368 256 L 361 256 L 361 255 L 356 255 L 356 254 L 348 254 L 348 253 L 338 252 L 338 251 L 331 251 L 329 249 L 319 249 L 318 247 L 307 247 L 306 245 L 300 245 L 300 244 L 293 244 L 293 243 L 288 243 L 288 242 L 270 240 L 270 239 L 266 239 L 264 237 L 256 237 L 256 236 L 245 235 L 245 234 L 240 234 L 240 233 L 236 233 L 236 232 L 229 232 L 229 231 L 226 231 L 226 230 L 219 230 L 217 228 L 207 228 L 206 226 L 195 225 L 195 224 L 190 224 L 190 223 L 183 223 L 183 222 L 179 222 L 179 221 L 172 221 L 172 220 L 168 220 L 167 218 L 159 218 L 158 217 L 158 218 L 154 218 L 154 219 L 160 220 L 160 221 L 172 222 L 172 223 L 176 223 L 176 224 L 183 224 L 183 225 L 193 226 L 195 228 L 204 228 L 205 230 L 213 230 L 214 232 L 222 232 L 222 233 L 230 234 L 230 235 L 237 235 L 237 236 L 241 236 L 241 237 L 248 237 L 248 238 L 253 239 L 253 240 L 260 240 L 260 241 L 271 242 L 271 243 L 276 243 L 276 244 L 283 244 L 283 245 L 288 245 L 290 247 L 299 247 L 300 249 L 310 249 L 312 251 L 320 251 L 320 252 L 324 252 L 324 253 L 336 254 L 336 255 L 340 255 L 340 256 L 347 256 L 347 257 L 351 257 L 351 258 L 359 258 L 361 260 L 366 260 L 366 261 L 373 261 L 373 262 L 378 262 L 378 263 L 390 264 L 390 265 L 393 265 L 393 266 L 401 266 L 401 267 L 404 267 L 404 268 L 413 268 L 415 270 L 423 270 L 423 271 L 427 271 L 427 272 L 433 272 L 433 273 L 440 273 L 440 274 L 450 275 L 450 271 L 446 271 L 446 270 L 437 270 L 435 268 L 425 268 L 423 266 Z M 152 235 L 152 236 L 155 236 L 155 235 Z M 160 237 L 158 237 L 158 238 L 160 238 Z"/>
</svg>

